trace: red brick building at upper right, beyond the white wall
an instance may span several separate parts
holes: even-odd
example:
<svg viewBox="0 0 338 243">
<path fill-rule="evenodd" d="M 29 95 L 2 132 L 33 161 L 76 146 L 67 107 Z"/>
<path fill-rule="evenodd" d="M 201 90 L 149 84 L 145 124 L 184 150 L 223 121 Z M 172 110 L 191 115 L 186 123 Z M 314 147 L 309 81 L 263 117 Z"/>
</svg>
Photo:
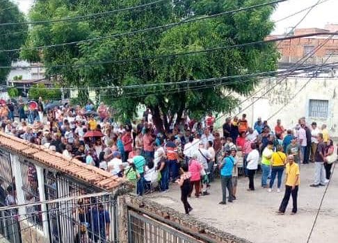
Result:
<svg viewBox="0 0 338 243">
<path fill-rule="evenodd" d="M 293 35 L 305 35 L 309 33 L 333 33 L 338 31 L 338 24 L 327 24 L 324 28 L 296 28 Z M 285 35 L 270 35 L 268 39 L 284 37 Z M 293 40 L 278 42 L 277 49 L 280 51 L 280 62 L 297 62 L 300 58 L 314 51 L 316 47 L 325 42 L 330 35 L 315 35 Z M 330 58 L 328 58 L 330 57 Z M 338 35 L 330 38 L 321 49 L 316 51 L 308 64 L 321 64 L 325 60 L 337 62 L 338 60 Z"/>
</svg>

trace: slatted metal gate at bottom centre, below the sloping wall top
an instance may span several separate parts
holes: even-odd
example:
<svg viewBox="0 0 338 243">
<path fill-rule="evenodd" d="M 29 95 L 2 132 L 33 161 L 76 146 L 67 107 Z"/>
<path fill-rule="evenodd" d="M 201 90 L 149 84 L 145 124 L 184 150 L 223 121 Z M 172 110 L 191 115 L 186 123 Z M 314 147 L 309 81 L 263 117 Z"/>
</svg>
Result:
<svg viewBox="0 0 338 243">
<path fill-rule="evenodd" d="M 145 214 L 128 210 L 129 243 L 195 243 L 195 237 Z"/>
</svg>

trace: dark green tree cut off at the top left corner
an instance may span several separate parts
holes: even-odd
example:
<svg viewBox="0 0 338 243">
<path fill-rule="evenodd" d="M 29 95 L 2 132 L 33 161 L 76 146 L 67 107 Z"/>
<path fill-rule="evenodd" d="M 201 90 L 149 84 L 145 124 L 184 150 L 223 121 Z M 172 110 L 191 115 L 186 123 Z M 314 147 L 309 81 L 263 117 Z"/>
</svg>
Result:
<svg viewBox="0 0 338 243">
<path fill-rule="evenodd" d="M 10 0 L 1 1 L 0 24 L 10 22 L 25 22 L 24 15 L 19 11 L 17 5 Z M 8 25 L 0 26 L 0 49 L 18 49 L 26 40 L 28 26 Z M 19 52 L 1 52 L 0 65 L 10 66 L 19 58 Z M 0 83 L 5 84 L 10 69 L 0 69 Z"/>
</svg>

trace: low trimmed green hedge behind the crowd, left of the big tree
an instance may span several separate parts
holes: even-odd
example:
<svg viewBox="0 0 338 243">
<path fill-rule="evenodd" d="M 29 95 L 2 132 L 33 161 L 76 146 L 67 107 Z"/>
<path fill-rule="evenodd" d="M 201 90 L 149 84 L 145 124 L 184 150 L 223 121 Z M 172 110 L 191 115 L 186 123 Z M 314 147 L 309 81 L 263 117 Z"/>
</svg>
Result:
<svg viewBox="0 0 338 243">
<path fill-rule="evenodd" d="M 31 89 L 29 89 L 29 98 L 31 99 L 39 99 L 42 97 L 43 100 L 46 99 L 61 99 L 61 86 L 55 85 L 52 89 L 48 89 L 46 85 L 43 83 L 39 83 L 38 85 L 34 85 Z"/>
</svg>

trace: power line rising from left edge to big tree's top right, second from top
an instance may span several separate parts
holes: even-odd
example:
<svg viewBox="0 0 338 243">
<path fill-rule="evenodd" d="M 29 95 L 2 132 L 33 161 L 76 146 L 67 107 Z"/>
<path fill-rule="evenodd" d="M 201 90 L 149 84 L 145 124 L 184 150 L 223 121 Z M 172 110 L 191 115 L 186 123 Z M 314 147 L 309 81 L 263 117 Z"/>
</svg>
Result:
<svg viewBox="0 0 338 243">
<path fill-rule="evenodd" d="M 204 19 L 210 19 L 210 18 L 214 18 L 214 17 L 219 17 L 222 15 L 227 15 L 227 14 L 233 14 L 236 12 L 241 12 L 241 11 L 245 11 L 245 10 L 252 10 L 255 8 L 260 8 L 263 6 L 270 6 L 270 5 L 275 5 L 277 3 L 281 3 L 284 1 L 289 1 L 289 0 L 278 0 L 278 1 L 271 1 L 268 3 L 261 3 L 261 4 L 257 4 L 255 6 L 250 6 L 250 7 L 246 7 L 246 8 L 239 8 L 236 10 L 230 10 L 230 11 L 225 11 L 225 12 L 220 12 L 214 15 L 207 15 L 204 17 L 197 17 L 194 19 L 186 19 L 186 20 L 182 20 L 180 22 L 175 22 L 175 23 L 171 23 L 171 24 L 165 24 L 165 25 L 161 25 L 161 26 L 154 26 L 154 27 L 150 27 L 150 28 L 143 28 L 140 30 L 135 30 L 135 31 L 129 31 L 129 32 L 125 32 L 125 33 L 118 33 L 115 35 L 107 35 L 107 36 L 103 36 L 103 37 L 95 37 L 95 38 L 91 38 L 91 39 L 87 39 L 87 40 L 79 40 L 76 42 L 65 42 L 65 43 L 61 43 L 61 44 L 51 44 L 51 45 L 45 45 L 42 47 L 25 47 L 22 49 L 11 49 L 11 50 L 1 50 L 0 52 L 13 52 L 13 51 L 22 51 L 22 50 L 39 50 L 39 49 L 45 49 L 45 48 L 51 48 L 51 47 L 65 47 L 67 45 L 72 45 L 72 44 L 81 44 L 81 43 L 86 43 L 86 42 L 92 42 L 92 41 L 97 41 L 97 40 L 105 40 L 105 39 L 109 39 L 109 38 L 113 38 L 113 37 L 122 37 L 122 36 L 127 36 L 127 35 L 134 35 L 134 34 L 138 34 L 138 33 L 145 33 L 147 31 L 155 31 L 161 28 L 171 28 L 174 26 L 179 26 L 181 24 L 188 24 L 188 23 L 192 23 L 192 22 L 196 22 L 196 21 L 200 21 L 200 20 L 204 20 Z"/>
</svg>

